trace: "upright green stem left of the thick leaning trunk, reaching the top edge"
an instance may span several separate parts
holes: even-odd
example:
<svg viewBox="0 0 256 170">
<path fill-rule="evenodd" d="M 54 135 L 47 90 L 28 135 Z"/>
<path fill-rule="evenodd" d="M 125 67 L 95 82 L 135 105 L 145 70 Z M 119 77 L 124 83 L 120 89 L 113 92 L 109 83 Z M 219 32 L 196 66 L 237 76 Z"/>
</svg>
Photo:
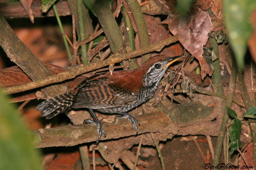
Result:
<svg viewBox="0 0 256 170">
<path fill-rule="evenodd" d="M 77 3 L 77 11 L 78 11 L 78 20 L 79 20 L 79 30 L 80 30 L 80 37 L 81 40 L 86 39 L 85 36 L 85 28 L 84 28 L 84 18 L 86 18 L 89 10 L 86 10 L 85 15 L 83 15 L 83 1 L 82 0 L 76 0 Z M 82 54 L 81 54 L 81 60 L 83 61 L 84 66 L 88 65 L 88 54 L 87 54 L 87 48 L 86 44 L 81 46 Z"/>
</svg>

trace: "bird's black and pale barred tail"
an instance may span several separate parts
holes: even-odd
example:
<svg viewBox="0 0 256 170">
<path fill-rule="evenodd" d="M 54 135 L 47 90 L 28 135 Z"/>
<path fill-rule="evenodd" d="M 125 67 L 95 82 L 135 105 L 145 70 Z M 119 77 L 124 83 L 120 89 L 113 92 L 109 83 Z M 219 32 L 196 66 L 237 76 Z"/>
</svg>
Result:
<svg viewBox="0 0 256 170">
<path fill-rule="evenodd" d="M 59 113 L 67 112 L 71 109 L 77 90 L 53 97 L 36 106 L 36 110 L 42 110 L 41 116 L 50 119 Z"/>
</svg>

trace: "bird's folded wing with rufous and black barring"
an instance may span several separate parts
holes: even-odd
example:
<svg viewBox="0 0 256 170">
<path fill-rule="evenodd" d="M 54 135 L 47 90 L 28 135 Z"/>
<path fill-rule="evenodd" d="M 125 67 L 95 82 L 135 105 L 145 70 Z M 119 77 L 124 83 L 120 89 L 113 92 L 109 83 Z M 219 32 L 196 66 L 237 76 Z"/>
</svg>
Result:
<svg viewBox="0 0 256 170">
<path fill-rule="evenodd" d="M 137 102 L 137 96 L 131 92 L 116 88 L 108 77 L 80 84 L 72 108 L 105 109 L 129 106 Z"/>
</svg>

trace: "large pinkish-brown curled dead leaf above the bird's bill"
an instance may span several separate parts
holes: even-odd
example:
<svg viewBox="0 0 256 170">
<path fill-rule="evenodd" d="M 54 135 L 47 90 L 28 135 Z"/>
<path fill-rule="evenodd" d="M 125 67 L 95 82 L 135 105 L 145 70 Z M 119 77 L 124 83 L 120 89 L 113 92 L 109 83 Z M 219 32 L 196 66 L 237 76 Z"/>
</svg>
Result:
<svg viewBox="0 0 256 170">
<path fill-rule="evenodd" d="M 179 37 L 180 43 L 199 61 L 201 77 L 212 75 L 212 70 L 203 57 L 203 46 L 208 40 L 208 33 L 212 31 L 212 22 L 209 14 L 199 11 L 195 16 L 182 18 L 174 17 L 169 23 L 169 30 Z"/>
</svg>

